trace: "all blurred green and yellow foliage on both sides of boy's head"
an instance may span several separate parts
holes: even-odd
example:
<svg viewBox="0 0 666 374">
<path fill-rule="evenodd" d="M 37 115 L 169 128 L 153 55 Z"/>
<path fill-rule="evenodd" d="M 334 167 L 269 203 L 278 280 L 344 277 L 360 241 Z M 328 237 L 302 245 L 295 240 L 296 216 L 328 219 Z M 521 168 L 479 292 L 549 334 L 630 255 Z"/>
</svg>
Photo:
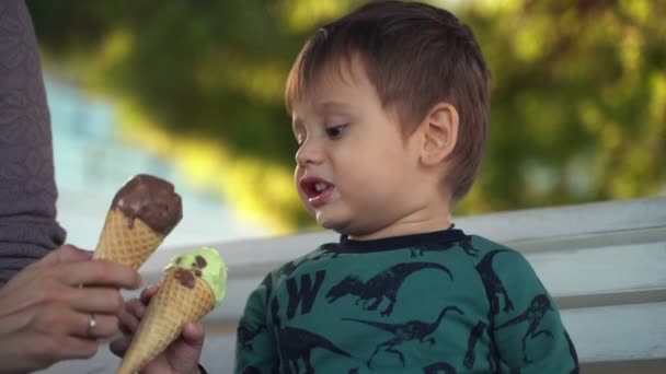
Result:
<svg viewBox="0 0 666 374">
<path fill-rule="evenodd" d="M 315 27 L 360 2 L 28 5 L 50 68 L 176 139 L 222 144 L 233 156 L 221 159 L 262 160 L 272 172 L 256 173 L 256 186 L 220 187 L 232 201 L 261 202 L 268 175 L 289 178 L 294 164 L 288 69 Z M 480 0 L 453 10 L 493 71 L 490 144 L 458 213 L 664 194 L 666 2 Z M 311 224 L 294 198 L 263 202 L 252 209 L 286 230 Z"/>
</svg>

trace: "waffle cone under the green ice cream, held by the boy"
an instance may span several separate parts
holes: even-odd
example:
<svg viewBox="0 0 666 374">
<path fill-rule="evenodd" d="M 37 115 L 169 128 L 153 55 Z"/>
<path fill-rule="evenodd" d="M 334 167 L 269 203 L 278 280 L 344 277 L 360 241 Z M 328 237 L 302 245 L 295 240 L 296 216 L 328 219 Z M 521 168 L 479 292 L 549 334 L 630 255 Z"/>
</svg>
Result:
<svg viewBox="0 0 666 374">
<path fill-rule="evenodd" d="M 200 278 L 190 289 L 176 278 L 176 268 L 166 270 L 158 293 L 141 318 L 118 374 L 138 373 L 182 332 L 187 322 L 198 322 L 215 307 L 215 294 Z"/>
</svg>

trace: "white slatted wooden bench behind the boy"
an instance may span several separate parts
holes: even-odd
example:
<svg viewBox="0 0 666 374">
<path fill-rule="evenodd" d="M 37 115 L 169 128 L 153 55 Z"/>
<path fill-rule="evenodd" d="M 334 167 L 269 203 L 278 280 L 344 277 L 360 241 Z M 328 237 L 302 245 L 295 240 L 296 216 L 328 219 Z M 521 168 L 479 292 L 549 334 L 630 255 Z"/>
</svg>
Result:
<svg viewBox="0 0 666 374">
<path fill-rule="evenodd" d="M 455 220 L 525 254 L 554 296 L 576 346 L 582 373 L 666 373 L 666 198 L 613 201 L 476 215 Z M 331 232 L 208 244 L 229 266 L 222 306 L 205 318 L 202 363 L 232 373 L 234 326 L 249 292 L 278 265 Z M 159 250 L 143 266 L 156 282 L 170 257 Z M 129 295 L 128 295 L 129 296 Z M 60 363 L 46 373 L 113 373 L 118 360 L 102 349 L 87 362 Z"/>
</svg>

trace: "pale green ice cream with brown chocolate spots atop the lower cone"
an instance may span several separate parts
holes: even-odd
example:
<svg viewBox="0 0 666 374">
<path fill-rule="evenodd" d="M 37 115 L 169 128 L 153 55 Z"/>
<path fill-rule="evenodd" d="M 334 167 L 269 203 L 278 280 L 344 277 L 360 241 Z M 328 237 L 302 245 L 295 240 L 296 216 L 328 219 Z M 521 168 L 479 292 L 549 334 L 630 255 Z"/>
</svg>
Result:
<svg viewBox="0 0 666 374">
<path fill-rule="evenodd" d="M 164 271 L 174 267 L 206 281 L 215 293 L 215 305 L 220 305 L 227 292 L 227 265 L 217 250 L 208 247 L 194 248 L 174 257 Z M 183 285 L 188 287 L 188 282 L 194 285 L 194 277 L 182 278 Z"/>
</svg>

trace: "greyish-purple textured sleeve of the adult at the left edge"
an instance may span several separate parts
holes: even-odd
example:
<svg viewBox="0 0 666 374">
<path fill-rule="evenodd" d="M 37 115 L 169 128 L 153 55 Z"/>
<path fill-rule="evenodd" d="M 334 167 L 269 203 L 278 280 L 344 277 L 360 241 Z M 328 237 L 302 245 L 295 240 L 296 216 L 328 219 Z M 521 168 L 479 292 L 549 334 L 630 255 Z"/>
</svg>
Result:
<svg viewBox="0 0 666 374">
<path fill-rule="evenodd" d="M 0 284 L 65 241 L 50 117 L 23 0 L 0 1 Z"/>
</svg>

